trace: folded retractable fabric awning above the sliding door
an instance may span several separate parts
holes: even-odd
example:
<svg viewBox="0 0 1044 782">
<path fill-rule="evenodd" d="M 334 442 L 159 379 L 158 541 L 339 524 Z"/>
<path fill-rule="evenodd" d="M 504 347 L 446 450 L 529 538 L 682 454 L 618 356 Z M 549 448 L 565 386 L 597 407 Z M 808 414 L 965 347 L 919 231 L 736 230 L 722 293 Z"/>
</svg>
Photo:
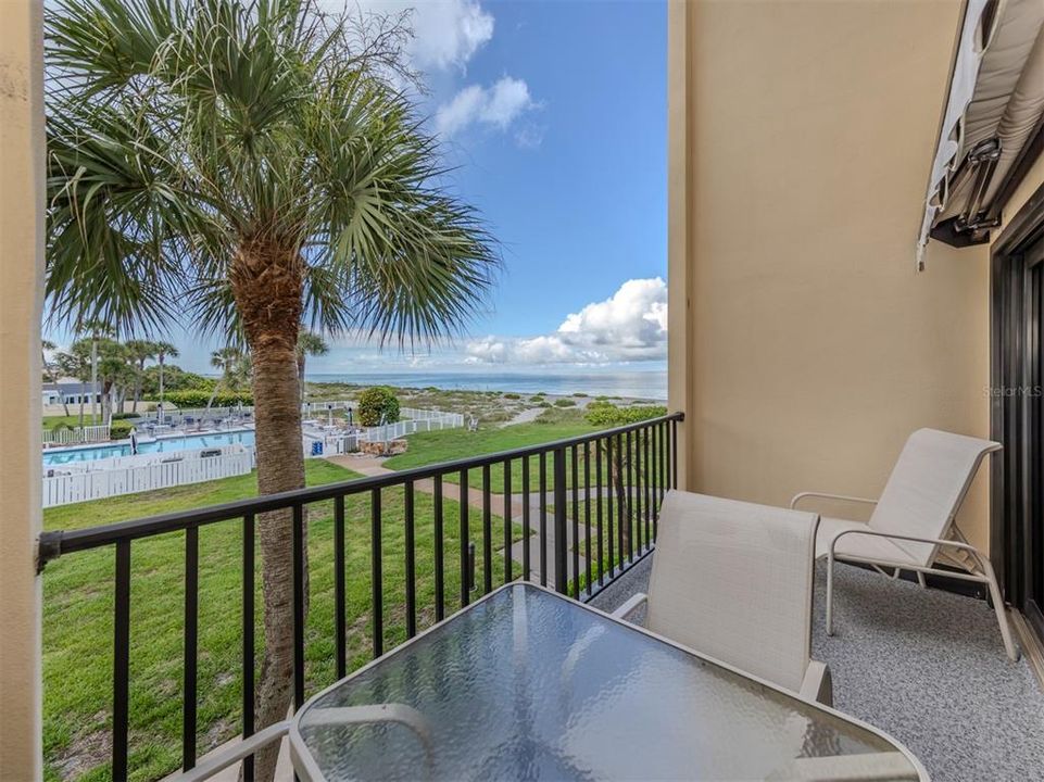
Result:
<svg viewBox="0 0 1044 782">
<path fill-rule="evenodd" d="M 967 0 L 917 244 L 989 241 L 1044 118 L 1044 0 Z"/>
</svg>

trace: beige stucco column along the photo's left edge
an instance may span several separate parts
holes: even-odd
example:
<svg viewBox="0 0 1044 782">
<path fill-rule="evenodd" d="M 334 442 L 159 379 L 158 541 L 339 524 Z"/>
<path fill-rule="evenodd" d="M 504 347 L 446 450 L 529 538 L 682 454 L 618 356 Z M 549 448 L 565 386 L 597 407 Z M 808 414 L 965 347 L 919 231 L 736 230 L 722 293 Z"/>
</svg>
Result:
<svg viewBox="0 0 1044 782">
<path fill-rule="evenodd" d="M 40 757 L 42 2 L 0 0 L 0 780 Z"/>
</svg>

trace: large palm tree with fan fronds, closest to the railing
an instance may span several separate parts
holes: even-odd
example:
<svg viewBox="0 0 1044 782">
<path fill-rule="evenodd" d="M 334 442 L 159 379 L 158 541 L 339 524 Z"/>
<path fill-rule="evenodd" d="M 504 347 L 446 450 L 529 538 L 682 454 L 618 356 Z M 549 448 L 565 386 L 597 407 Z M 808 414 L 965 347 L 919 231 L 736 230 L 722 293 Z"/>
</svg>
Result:
<svg viewBox="0 0 1044 782">
<path fill-rule="evenodd" d="M 315 0 L 54 0 L 47 292 L 55 317 L 187 319 L 253 363 L 257 488 L 304 485 L 301 324 L 414 345 L 456 333 L 496 264 L 392 75 L 408 30 Z M 383 25 L 383 26 L 382 26 Z M 256 726 L 286 716 L 289 512 L 259 517 Z M 257 759 L 268 780 L 275 748 Z"/>
</svg>

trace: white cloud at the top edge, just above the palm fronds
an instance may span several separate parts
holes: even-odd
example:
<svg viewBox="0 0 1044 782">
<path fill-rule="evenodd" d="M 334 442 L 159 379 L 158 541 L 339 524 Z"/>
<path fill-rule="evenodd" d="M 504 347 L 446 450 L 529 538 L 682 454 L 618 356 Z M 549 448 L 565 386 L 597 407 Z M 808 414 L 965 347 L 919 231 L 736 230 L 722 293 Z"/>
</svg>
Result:
<svg viewBox="0 0 1044 782">
<path fill-rule="evenodd" d="M 327 5 L 342 4 L 328 0 Z M 407 47 L 414 67 L 464 68 L 493 37 L 493 15 L 478 0 L 348 0 L 362 11 L 395 14 L 407 9 L 414 37 Z"/>
</svg>

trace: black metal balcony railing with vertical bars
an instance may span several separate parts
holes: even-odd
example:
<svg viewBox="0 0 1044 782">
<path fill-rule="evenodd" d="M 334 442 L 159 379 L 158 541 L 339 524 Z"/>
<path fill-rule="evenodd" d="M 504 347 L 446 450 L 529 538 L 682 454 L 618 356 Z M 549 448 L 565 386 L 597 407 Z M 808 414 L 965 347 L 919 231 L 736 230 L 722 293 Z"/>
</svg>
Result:
<svg viewBox="0 0 1044 782">
<path fill-rule="evenodd" d="M 656 540 L 659 503 L 666 491 L 678 482 L 678 424 L 680 413 L 616 429 L 502 453 L 403 470 L 391 475 L 319 485 L 281 494 L 232 502 L 224 505 L 152 516 L 135 521 L 91 527 L 73 531 L 52 531 L 40 535 L 39 567 L 60 556 L 89 550 L 112 550 L 114 556 L 113 609 L 113 692 L 112 692 L 112 778 L 121 781 L 128 774 L 130 724 L 130 594 L 131 544 L 142 539 L 185 533 L 184 601 L 184 682 L 181 720 L 181 766 L 190 769 L 198 758 L 198 664 L 200 611 L 200 529 L 217 524 L 239 524 L 242 529 L 242 583 L 235 600 L 242 604 L 242 702 L 240 723 L 243 735 L 255 730 L 255 559 L 259 516 L 274 510 L 290 510 L 292 525 L 293 579 L 293 704 L 300 707 L 306 690 L 318 690 L 332 682 L 312 682 L 305 678 L 305 628 L 307 622 L 306 515 L 305 508 L 319 502 L 332 502 L 334 606 L 330 632 L 335 635 L 335 674 L 349 671 L 349 626 L 345 611 L 345 554 L 350 541 L 345 532 L 345 503 L 369 495 L 370 605 L 369 626 L 372 654 L 385 653 L 385 586 L 382 571 L 387 553 L 382 548 L 382 492 L 401 490 L 405 583 L 402 611 L 405 635 L 418 632 L 417 600 L 417 503 L 418 485 L 432 500 L 433 605 L 431 621 L 445 617 L 448 605 L 455 609 L 474 600 L 473 591 L 492 591 L 494 580 L 506 583 L 515 578 L 539 579 L 558 592 L 588 601 L 646 556 Z M 550 461 L 550 482 L 549 482 Z M 515 465 L 517 472 L 513 471 Z M 582 468 L 581 468 L 582 465 Z M 492 471 L 503 470 L 501 522 L 493 529 Z M 480 495 L 471 497 L 473 471 L 480 474 Z M 531 502 L 536 472 L 538 500 Z M 520 483 L 512 480 L 518 475 Z M 446 497 L 445 484 L 456 478 L 460 487 L 458 573 L 445 556 Z M 593 477 L 593 480 L 592 480 Z M 520 514 L 514 510 L 515 499 L 521 502 Z M 397 496 L 398 499 L 398 496 Z M 471 529 L 473 500 L 481 512 L 480 529 Z M 582 509 L 581 509 L 582 502 Z M 533 525 L 532 513 L 539 518 Z M 398 514 L 397 514 L 398 515 Z M 520 529 L 516 520 L 520 517 Z M 549 529 L 549 517 L 551 528 Z M 593 527 L 592 527 L 593 520 Z M 452 521 L 451 521 L 452 524 Z M 536 527 L 536 528 L 534 528 Z M 582 530 L 582 566 L 581 566 Z M 593 538 L 592 541 L 592 531 Z M 550 535 L 549 535 L 550 533 Z M 494 551 L 494 539 L 502 534 L 501 551 Z M 477 568 L 477 546 L 481 545 L 482 577 Z M 536 541 L 537 560 L 531 547 Z M 359 541 L 353 539 L 352 544 Z M 520 543 L 520 545 L 518 545 Z M 515 546 L 520 548 L 516 563 Z M 549 554 L 551 563 L 549 564 Z M 494 572 L 494 559 L 503 559 L 502 575 Z M 520 565 L 518 572 L 515 566 Z M 550 565 L 550 572 L 549 572 Z M 533 571 L 536 567 L 536 572 Z M 458 601 L 450 605 L 448 581 L 460 580 Z M 315 595 L 313 595 L 314 597 Z M 252 780 L 253 765 L 244 764 L 244 779 Z"/>
</svg>

